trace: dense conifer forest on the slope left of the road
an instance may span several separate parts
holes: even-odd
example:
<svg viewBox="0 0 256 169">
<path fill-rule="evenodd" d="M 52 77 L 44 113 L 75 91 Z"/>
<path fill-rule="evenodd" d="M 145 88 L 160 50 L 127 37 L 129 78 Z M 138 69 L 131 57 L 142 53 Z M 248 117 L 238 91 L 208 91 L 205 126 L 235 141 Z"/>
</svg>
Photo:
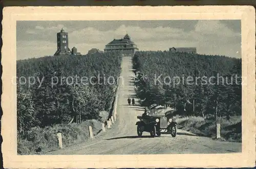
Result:
<svg viewBox="0 0 256 169">
<path fill-rule="evenodd" d="M 99 119 L 110 111 L 121 71 L 118 53 L 17 61 L 17 130 Z"/>
</svg>

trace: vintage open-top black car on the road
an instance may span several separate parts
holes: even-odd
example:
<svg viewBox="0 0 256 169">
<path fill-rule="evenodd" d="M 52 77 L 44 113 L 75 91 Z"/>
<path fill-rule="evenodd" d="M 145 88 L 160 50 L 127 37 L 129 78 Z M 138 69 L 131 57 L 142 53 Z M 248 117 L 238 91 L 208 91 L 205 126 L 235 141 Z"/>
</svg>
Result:
<svg viewBox="0 0 256 169">
<path fill-rule="evenodd" d="M 137 125 L 138 136 L 141 137 L 143 132 L 150 132 L 152 137 L 160 136 L 163 130 L 173 137 L 177 134 L 177 122 L 175 118 L 168 118 L 165 114 L 146 114 L 137 116 L 139 121 Z"/>
</svg>

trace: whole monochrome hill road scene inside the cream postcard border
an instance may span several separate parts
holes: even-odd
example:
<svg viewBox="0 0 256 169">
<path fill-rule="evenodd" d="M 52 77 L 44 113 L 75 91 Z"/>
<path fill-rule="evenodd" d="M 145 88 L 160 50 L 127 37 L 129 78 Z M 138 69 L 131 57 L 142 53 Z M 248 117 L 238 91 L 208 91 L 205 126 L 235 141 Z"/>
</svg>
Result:
<svg viewBox="0 0 256 169">
<path fill-rule="evenodd" d="M 241 19 L 26 19 L 15 30 L 16 155 L 242 153 Z"/>
</svg>

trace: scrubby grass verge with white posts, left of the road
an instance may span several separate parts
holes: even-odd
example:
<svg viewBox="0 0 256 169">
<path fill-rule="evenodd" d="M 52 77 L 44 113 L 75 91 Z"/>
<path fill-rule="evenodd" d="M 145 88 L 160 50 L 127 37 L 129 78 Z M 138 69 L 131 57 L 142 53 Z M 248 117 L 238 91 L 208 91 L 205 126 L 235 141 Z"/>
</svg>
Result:
<svg viewBox="0 0 256 169">
<path fill-rule="evenodd" d="M 95 119 L 87 120 L 81 124 L 58 124 L 51 127 L 32 128 L 27 138 L 17 137 L 17 153 L 19 155 L 44 154 L 58 149 L 56 134 L 62 133 L 63 147 L 81 143 L 89 138 L 89 126 L 93 134 L 101 131 L 101 122 Z"/>
</svg>

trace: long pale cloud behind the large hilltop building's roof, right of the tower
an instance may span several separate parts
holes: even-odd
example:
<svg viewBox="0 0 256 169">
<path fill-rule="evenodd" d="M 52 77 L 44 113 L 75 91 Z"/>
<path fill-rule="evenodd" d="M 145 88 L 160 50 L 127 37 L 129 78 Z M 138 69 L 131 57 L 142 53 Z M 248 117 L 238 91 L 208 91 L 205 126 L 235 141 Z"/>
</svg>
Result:
<svg viewBox="0 0 256 169">
<path fill-rule="evenodd" d="M 135 26 L 121 25 L 115 30 L 99 31 L 96 28 L 88 27 L 81 30 L 75 30 L 69 33 L 69 37 L 76 39 L 77 42 L 104 42 L 105 44 L 113 39 L 123 38 L 126 32 L 132 40 L 166 40 L 168 38 L 182 38 L 184 31 L 170 27 L 140 28 Z M 186 35 L 185 35 L 186 36 Z M 73 40 L 72 40 L 73 41 Z"/>
</svg>

